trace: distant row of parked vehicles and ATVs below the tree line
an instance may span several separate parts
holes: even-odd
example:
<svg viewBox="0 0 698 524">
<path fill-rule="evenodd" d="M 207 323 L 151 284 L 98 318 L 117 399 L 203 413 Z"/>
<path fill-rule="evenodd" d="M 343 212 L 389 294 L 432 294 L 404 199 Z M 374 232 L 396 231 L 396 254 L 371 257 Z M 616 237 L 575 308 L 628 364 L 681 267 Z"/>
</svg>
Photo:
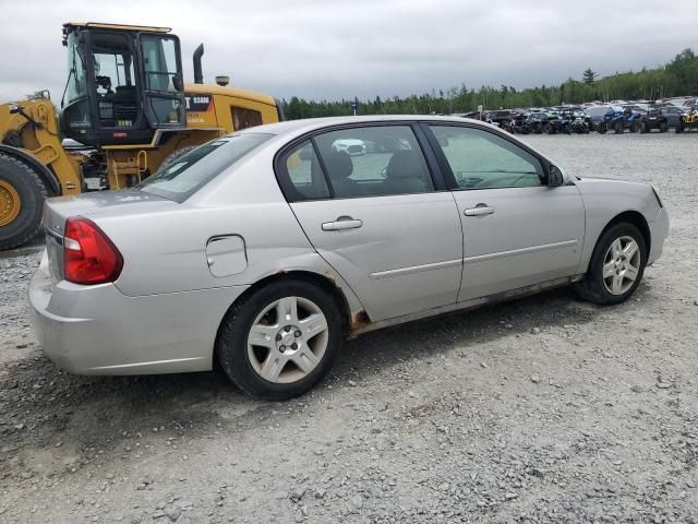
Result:
<svg viewBox="0 0 698 524">
<path fill-rule="evenodd" d="M 676 133 L 698 130 L 698 99 L 671 98 L 650 103 L 647 100 L 587 103 L 531 107 L 528 109 L 497 109 L 493 111 L 458 114 L 464 118 L 485 120 L 510 133 L 519 134 L 605 134 Z"/>
</svg>

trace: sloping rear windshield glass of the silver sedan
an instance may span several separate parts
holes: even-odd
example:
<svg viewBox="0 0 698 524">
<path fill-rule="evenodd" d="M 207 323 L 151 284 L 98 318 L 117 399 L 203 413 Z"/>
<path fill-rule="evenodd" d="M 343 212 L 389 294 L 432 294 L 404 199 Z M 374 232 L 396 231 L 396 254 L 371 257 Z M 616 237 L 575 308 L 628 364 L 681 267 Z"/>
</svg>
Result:
<svg viewBox="0 0 698 524">
<path fill-rule="evenodd" d="M 139 184 L 139 189 L 165 199 L 184 202 L 270 134 L 244 133 L 213 140 L 181 156 Z"/>
</svg>

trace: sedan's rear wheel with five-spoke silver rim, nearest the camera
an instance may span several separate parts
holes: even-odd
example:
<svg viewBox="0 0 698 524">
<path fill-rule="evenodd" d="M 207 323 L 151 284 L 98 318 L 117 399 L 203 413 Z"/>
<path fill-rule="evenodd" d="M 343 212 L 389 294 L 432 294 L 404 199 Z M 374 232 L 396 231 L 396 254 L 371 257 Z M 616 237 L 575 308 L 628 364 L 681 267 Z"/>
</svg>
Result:
<svg viewBox="0 0 698 524">
<path fill-rule="evenodd" d="M 239 301 L 216 343 L 220 366 L 248 394 L 286 401 L 329 371 L 342 343 L 332 296 L 304 281 L 275 282 Z"/>
</svg>

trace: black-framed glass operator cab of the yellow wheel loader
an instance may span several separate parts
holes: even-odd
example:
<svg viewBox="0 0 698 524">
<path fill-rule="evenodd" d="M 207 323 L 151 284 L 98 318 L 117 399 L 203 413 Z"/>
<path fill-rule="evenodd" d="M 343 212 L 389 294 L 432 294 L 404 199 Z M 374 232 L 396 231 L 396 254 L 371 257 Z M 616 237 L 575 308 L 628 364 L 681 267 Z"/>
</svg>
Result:
<svg viewBox="0 0 698 524">
<path fill-rule="evenodd" d="M 151 143 L 186 126 L 179 38 L 168 28 L 65 24 L 61 131 L 96 147 Z"/>
</svg>

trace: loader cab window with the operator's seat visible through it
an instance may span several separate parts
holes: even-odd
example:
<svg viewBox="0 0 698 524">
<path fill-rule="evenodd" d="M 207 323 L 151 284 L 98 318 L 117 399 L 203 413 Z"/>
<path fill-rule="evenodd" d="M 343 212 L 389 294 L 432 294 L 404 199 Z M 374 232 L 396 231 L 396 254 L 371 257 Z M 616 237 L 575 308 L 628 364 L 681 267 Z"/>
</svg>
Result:
<svg viewBox="0 0 698 524">
<path fill-rule="evenodd" d="M 95 33 L 92 40 L 95 94 L 104 128 L 131 128 L 139 119 L 133 51 L 125 35 Z"/>
</svg>

